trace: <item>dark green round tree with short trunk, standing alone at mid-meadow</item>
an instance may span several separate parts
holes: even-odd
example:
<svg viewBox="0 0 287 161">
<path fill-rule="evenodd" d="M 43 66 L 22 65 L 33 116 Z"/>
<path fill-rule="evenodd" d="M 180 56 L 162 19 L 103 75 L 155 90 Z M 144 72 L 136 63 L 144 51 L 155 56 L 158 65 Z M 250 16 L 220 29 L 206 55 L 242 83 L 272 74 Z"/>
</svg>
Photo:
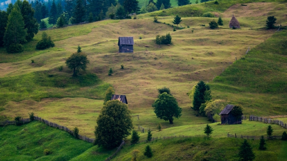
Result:
<svg viewBox="0 0 287 161">
<path fill-rule="evenodd" d="M 169 120 L 170 124 L 173 124 L 173 117 L 181 116 L 182 109 L 178 106 L 176 99 L 172 95 L 168 95 L 167 92 L 158 95 L 158 99 L 155 100 L 152 107 L 158 118 Z"/>
</svg>

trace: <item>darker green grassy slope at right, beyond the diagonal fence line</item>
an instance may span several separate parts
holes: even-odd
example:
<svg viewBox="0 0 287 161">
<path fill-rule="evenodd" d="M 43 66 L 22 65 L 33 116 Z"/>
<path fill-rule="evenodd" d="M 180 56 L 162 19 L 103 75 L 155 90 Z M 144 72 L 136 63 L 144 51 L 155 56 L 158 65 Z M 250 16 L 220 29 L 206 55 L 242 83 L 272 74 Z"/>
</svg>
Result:
<svg viewBox="0 0 287 161">
<path fill-rule="evenodd" d="M 250 107 L 245 114 L 287 112 L 286 36 L 286 31 L 277 32 L 234 62 L 210 84 L 214 95 Z"/>
</svg>

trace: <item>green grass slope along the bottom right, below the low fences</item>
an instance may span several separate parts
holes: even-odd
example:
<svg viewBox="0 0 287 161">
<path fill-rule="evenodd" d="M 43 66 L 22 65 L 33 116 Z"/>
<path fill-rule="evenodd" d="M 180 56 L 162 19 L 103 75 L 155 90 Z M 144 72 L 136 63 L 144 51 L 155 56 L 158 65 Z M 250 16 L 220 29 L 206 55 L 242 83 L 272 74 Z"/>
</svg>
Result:
<svg viewBox="0 0 287 161">
<path fill-rule="evenodd" d="M 287 142 L 282 140 L 268 140 L 267 150 L 258 149 L 259 140 L 248 140 L 255 153 L 255 160 L 286 160 Z M 131 160 L 131 152 L 138 149 L 138 160 L 210 160 L 210 161 L 235 161 L 239 160 L 239 147 L 243 139 L 239 138 L 215 138 L 204 137 L 173 138 L 165 140 L 155 140 L 150 143 L 140 143 L 136 145 L 125 145 L 116 155 L 114 160 Z M 152 148 L 153 156 L 147 158 L 143 155 L 144 148 L 149 145 Z"/>
</svg>

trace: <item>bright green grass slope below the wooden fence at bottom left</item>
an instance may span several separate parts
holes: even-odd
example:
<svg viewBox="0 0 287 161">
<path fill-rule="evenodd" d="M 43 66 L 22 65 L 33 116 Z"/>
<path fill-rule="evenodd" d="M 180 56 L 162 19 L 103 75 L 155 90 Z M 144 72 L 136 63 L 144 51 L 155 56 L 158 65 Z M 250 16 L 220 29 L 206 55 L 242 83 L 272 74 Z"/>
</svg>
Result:
<svg viewBox="0 0 287 161">
<path fill-rule="evenodd" d="M 65 131 L 33 121 L 22 126 L 0 127 L 0 158 L 7 161 L 104 160 L 113 153 L 77 140 Z M 44 155 L 44 149 L 51 154 Z M 83 155 L 89 157 L 83 158 Z M 80 159 L 76 159 L 80 158 Z"/>
</svg>

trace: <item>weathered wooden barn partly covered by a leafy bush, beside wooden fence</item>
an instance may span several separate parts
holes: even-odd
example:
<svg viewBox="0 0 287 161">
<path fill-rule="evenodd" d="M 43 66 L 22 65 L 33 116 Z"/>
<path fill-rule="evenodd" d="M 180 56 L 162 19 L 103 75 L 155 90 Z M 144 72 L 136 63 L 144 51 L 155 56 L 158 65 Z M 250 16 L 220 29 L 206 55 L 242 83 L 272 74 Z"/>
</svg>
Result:
<svg viewBox="0 0 287 161">
<path fill-rule="evenodd" d="M 233 109 L 234 105 L 227 105 L 225 108 L 220 112 L 221 115 L 221 124 L 241 124 L 241 117 L 240 119 L 236 119 L 233 114 L 231 114 L 231 110 Z"/>
</svg>

